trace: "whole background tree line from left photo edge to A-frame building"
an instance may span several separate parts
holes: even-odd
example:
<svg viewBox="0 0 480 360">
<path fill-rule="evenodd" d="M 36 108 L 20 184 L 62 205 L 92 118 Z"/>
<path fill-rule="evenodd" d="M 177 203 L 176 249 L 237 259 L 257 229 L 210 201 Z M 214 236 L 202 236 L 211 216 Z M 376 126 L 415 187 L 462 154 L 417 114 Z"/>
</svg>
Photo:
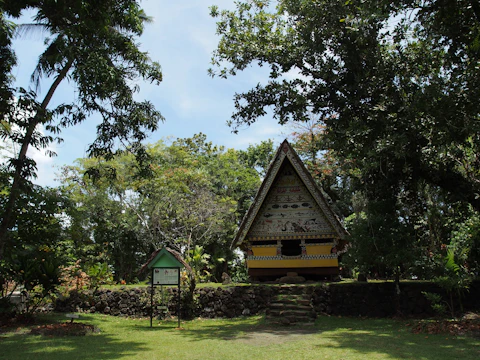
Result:
<svg viewBox="0 0 480 360">
<path fill-rule="evenodd" d="M 62 269 L 75 264 L 92 278 L 137 282 L 141 266 L 163 246 L 197 261 L 199 281 L 241 272 L 234 269 L 240 260 L 231 242 L 273 143 L 225 149 L 198 134 L 148 145 L 147 154 L 149 176 L 138 175 L 129 153 L 85 158 L 62 168 L 58 188 L 35 186 L 22 196 L 2 262 L 3 283 L 33 288 L 45 278 L 58 285 Z M 2 205 L 6 198 L 3 191 Z"/>
</svg>

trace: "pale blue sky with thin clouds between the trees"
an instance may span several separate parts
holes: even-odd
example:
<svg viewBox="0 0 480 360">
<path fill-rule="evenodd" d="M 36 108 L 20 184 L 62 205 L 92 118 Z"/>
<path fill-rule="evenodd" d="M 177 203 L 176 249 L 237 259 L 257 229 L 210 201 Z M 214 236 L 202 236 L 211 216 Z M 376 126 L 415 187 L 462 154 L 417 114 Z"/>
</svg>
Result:
<svg viewBox="0 0 480 360">
<path fill-rule="evenodd" d="M 235 93 L 248 91 L 258 83 L 268 80 L 267 69 L 252 67 L 228 79 L 212 78 L 207 70 L 219 36 L 216 35 L 216 19 L 209 15 L 209 7 L 233 9 L 231 0 L 143 0 L 142 8 L 152 23 L 138 39 L 140 49 L 148 52 L 150 58 L 162 67 L 163 81 L 159 86 L 138 82 L 138 100 L 152 102 L 165 117 L 158 130 L 147 142 L 160 139 L 192 137 L 197 133 L 207 135 L 207 140 L 227 148 L 245 149 L 250 144 L 272 139 L 275 145 L 289 133 L 271 116 L 260 119 L 238 134 L 232 133 L 227 121 L 234 112 Z M 22 21 L 29 22 L 31 14 L 24 14 Z M 15 85 L 30 86 L 30 75 L 41 54 L 44 34 L 32 33 L 15 39 L 14 49 L 18 65 L 13 71 Z M 51 79 L 45 79 L 41 90 L 48 89 Z M 66 82 L 57 89 L 52 105 L 72 102 L 74 87 Z M 64 142 L 53 145 L 57 153 L 54 158 L 44 152 L 30 151 L 38 167 L 35 183 L 42 186 L 56 186 L 56 173 L 63 165 L 71 165 L 75 159 L 85 157 L 88 145 L 96 135 L 98 118 L 87 119 L 84 123 L 64 130 Z"/>
</svg>

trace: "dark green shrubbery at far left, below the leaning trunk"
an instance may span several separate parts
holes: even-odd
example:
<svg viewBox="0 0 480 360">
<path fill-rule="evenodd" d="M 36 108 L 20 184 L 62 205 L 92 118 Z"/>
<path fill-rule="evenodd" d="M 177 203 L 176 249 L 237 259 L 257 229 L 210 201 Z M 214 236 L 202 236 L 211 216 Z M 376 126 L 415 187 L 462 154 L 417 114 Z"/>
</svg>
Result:
<svg viewBox="0 0 480 360">
<path fill-rule="evenodd" d="M 0 197 L 2 204 L 5 197 Z M 24 290 L 28 295 L 25 311 L 33 313 L 54 295 L 60 284 L 60 266 L 72 260 L 62 219 L 70 203 L 56 190 L 33 187 L 19 204 L 17 228 L 11 231 L 0 261 L 0 284 L 5 297 L 13 289 Z"/>
</svg>

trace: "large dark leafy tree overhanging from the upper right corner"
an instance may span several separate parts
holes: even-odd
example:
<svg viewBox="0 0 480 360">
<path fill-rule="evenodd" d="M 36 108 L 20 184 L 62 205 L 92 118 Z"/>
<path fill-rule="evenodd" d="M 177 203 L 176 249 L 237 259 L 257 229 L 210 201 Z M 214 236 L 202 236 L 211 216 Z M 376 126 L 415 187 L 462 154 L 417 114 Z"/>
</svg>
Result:
<svg viewBox="0 0 480 360">
<path fill-rule="evenodd" d="M 476 2 L 253 0 L 211 13 L 212 75 L 270 68 L 267 84 L 235 95 L 234 129 L 266 107 L 281 124 L 318 114 L 369 198 L 385 179 L 390 192 L 425 181 L 480 210 Z"/>
</svg>

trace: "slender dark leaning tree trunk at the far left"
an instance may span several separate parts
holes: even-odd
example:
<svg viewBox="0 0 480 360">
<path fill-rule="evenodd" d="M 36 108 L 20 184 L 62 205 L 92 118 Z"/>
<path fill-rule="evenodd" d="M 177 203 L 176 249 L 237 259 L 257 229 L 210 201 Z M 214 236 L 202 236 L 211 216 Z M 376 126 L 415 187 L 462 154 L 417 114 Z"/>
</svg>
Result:
<svg viewBox="0 0 480 360">
<path fill-rule="evenodd" d="M 47 106 L 50 103 L 50 100 L 53 97 L 53 94 L 58 88 L 58 85 L 62 80 L 67 76 L 68 71 L 73 65 L 73 60 L 68 60 L 68 62 L 63 67 L 62 71 L 58 74 L 57 78 L 53 82 L 52 86 L 48 90 L 47 95 L 42 101 L 39 109 L 35 116 L 30 120 L 30 123 L 25 133 L 25 137 L 22 140 L 22 146 L 20 152 L 15 162 L 15 173 L 13 175 L 13 183 L 10 187 L 10 194 L 8 196 L 8 202 L 3 212 L 2 222 L 0 224 L 0 260 L 3 259 L 3 252 L 5 249 L 5 243 L 7 241 L 8 230 L 11 229 L 15 224 L 14 210 L 20 196 L 20 185 L 22 182 L 22 171 L 25 165 L 25 159 L 27 157 L 28 147 L 32 141 L 33 133 L 37 126 L 44 121 L 44 115 L 47 110 Z"/>
</svg>

